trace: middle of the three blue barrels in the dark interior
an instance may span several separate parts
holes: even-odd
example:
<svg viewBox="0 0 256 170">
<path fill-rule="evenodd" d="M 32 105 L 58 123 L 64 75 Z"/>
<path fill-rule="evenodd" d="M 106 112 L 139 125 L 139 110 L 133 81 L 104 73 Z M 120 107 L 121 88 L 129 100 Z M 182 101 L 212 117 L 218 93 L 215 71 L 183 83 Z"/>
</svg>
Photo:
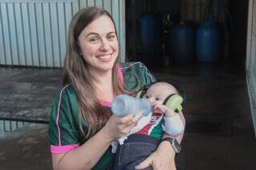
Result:
<svg viewBox="0 0 256 170">
<path fill-rule="evenodd" d="M 170 57 L 176 62 L 194 59 L 194 29 L 182 23 L 170 29 Z"/>
</svg>

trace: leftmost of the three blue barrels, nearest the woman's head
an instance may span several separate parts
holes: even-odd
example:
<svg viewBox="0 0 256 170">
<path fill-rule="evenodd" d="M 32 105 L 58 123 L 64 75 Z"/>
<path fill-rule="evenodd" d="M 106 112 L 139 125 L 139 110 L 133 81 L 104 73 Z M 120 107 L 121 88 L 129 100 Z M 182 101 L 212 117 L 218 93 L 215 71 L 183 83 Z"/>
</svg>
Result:
<svg viewBox="0 0 256 170">
<path fill-rule="evenodd" d="M 142 45 L 161 45 L 161 18 L 158 14 L 145 14 L 141 18 L 141 40 Z"/>
</svg>

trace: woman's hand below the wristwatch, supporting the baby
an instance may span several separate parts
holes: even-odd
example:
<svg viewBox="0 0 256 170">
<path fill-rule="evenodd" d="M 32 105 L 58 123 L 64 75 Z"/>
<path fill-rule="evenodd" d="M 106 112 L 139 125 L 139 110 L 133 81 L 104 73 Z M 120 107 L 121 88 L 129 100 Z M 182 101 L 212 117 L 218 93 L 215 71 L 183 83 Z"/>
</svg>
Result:
<svg viewBox="0 0 256 170">
<path fill-rule="evenodd" d="M 158 149 L 153 152 L 135 169 L 144 169 L 152 167 L 154 170 L 176 170 L 174 162 L 175 152 L 168 141 L 162 141 Z"/>
</svg>

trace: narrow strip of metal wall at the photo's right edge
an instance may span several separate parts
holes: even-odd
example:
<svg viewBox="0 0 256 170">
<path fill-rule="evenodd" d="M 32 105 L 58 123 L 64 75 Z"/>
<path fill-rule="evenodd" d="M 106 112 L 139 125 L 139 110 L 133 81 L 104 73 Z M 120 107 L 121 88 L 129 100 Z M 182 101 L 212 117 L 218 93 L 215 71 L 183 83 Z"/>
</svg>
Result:
<svg viewBox="0 0 256 170">
<path fill-rule="evenodd" d="M 254 121 L 254 132 L 256 136 L 256 0 L 249 1 L 246 81 L 250 97 L 251 114 Z"/>
</svg>

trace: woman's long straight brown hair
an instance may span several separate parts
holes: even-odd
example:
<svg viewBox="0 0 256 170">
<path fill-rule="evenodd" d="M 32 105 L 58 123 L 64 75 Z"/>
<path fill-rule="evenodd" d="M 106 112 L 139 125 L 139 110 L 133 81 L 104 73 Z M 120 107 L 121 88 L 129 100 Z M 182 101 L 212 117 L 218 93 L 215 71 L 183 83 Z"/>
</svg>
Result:
<svg viewBox="0 0 256 170">
<path fill-rule="evenodd" d="M 78 45 L 78 36 L 81 34 L 82 30 L 86 28 L 90 22 L 93 22 L 102 15 L 108 16 L 114 23 L 111 15 L 104 9 L 98 7 L 86 7 L 79 10 L 70 22 L 68 33 L 63 85 L 70 84 L 77 95 L 79 128 L 86 139 L 98 132 L 111 116 L 110 109 L 102 106 L 98 100 L 86 61 L 79 55 L 80 48 Z M 114 95 L 118 95 L 119 93 L 130 93 L 124 88 L 122 82 L 118 78 L 118 73 L 116 71 L 117 61 L 118 60 L 114 62 L 114 71 L 112 72 Z M 82 128 L 82 119 L 85 119 L 86 121 L 86 132 Z"/>
</svg>

